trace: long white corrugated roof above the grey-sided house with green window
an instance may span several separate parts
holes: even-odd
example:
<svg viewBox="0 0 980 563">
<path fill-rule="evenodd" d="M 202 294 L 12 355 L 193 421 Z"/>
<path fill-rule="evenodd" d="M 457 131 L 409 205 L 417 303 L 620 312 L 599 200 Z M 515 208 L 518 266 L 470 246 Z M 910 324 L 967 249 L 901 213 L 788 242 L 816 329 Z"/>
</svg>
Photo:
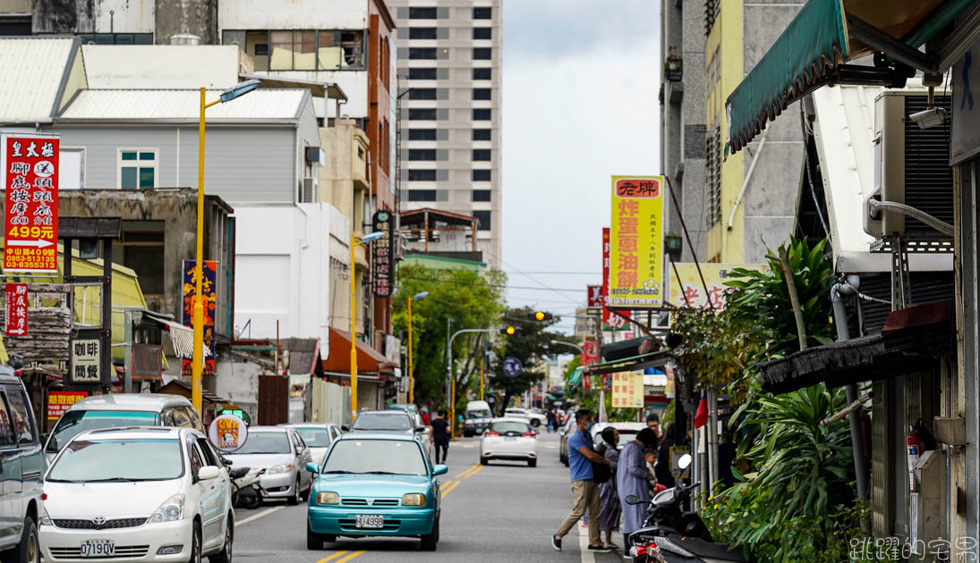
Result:
<svg viewBox="0 0 980 563">
<path fill-rule="evenodd" d="M 209 103 L 221 90 L 208 90 Z M 260 88 L 227 104 L 208 109 L 208 121 L 295 119 L 309 96 L 302 89 Z M 59 120 L 187 120 L 197 122 L 200 90 L 82 90 Z"/>
</svg>

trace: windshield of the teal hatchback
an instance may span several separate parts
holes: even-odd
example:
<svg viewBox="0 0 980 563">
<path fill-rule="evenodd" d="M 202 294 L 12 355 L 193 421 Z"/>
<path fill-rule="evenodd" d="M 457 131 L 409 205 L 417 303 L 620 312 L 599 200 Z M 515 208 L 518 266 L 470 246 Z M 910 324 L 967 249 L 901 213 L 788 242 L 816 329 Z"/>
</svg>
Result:
<svg viewBox="0 0 980 563">
<path fill-rule="evenodd" d="M 427 475 L 417 442 L 408 440 L 341 440 L 320 473 Z"/>
</svg>

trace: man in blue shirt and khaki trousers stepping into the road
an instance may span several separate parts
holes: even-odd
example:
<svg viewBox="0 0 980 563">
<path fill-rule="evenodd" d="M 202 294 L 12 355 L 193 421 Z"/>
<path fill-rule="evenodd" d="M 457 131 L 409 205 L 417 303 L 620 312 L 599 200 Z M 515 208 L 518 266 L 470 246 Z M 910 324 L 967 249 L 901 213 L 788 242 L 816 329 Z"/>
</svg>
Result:
<svg viewBox="0 0 980 563">
<path fill-rule="evenodd" d="M 592 422 L 592 412 L 589 409 L 580 408 L 575 412 L 575 431 L 568 436 L 568 470 L 571 474 L 571 494 L 574 504 L 558 533 L 552 536 L 552 547 L 557 551 L 562 550 L 562 538 L 578 523 L 586 508 L 589 509 L 588 550 L 594 553 L 610 551 L 603 544 L 599 534 L 599 518 L 602 510 L 599 504 L 599 488 L 592 473 L 593 463 L 610 466 L 610 462 L 596 453 L 592 437 L 588 432 L 590 422 Z"/>
</svg>

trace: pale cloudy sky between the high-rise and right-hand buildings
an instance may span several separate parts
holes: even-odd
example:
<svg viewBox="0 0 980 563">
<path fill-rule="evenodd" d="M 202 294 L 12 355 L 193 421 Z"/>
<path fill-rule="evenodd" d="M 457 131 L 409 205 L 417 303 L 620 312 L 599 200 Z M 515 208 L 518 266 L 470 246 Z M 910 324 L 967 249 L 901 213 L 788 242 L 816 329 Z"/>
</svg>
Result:
<svg viewBox="0 0 980 563">
<path fill-rule="evenodd" d="M 611 176 L 661 172 L 659 5 L 504 0 L 501 267 L 508 304 L 567 334 L 602 281 Z"/>
</svg>

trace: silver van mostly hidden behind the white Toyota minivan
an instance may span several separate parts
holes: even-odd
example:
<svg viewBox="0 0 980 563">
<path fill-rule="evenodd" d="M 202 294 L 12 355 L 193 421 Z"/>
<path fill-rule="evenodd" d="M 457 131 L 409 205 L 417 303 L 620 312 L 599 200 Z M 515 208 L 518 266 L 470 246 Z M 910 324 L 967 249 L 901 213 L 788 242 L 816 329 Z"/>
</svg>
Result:
<svg viewBox="0 0 980 563">
<path fill-rule="evenodd" d="M 126 393 L 97 395 L 75 402 L 48 435 L 44 454 L 50 464 L 58 451 L 86 430 L 126 426 L 193 428 L 207 435 L 194 405 L 167 394 Z"/>
</svg>

